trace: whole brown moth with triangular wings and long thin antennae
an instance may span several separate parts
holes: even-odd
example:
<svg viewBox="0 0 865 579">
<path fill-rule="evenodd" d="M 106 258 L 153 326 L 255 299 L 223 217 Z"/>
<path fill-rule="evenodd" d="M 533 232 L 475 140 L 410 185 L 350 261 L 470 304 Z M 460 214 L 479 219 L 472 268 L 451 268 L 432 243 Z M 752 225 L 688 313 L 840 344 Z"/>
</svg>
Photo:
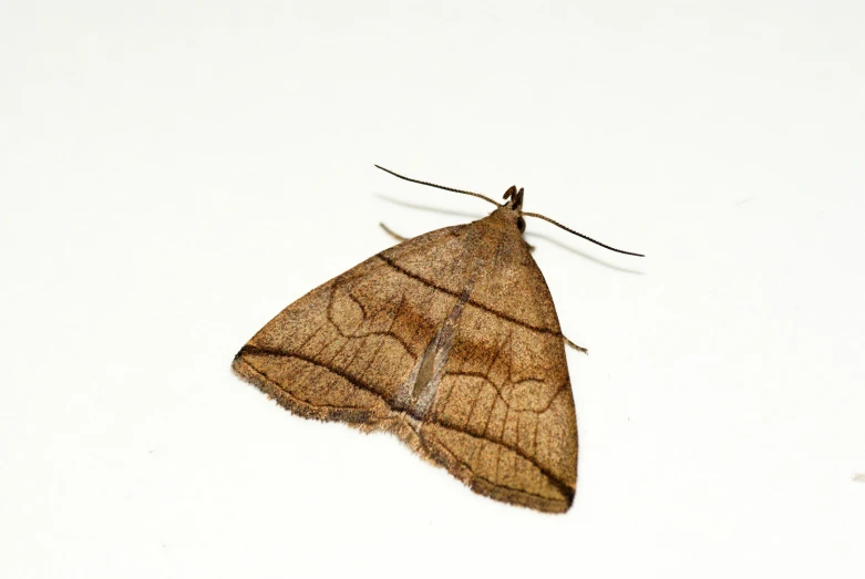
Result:
<svg viewBox="0 0 865 579">
<path fill-rule="evenodd" d="M 240 349 L 234 371 L 301 416 L 395 434 L 476 493 L 566 511 L 578 449 L 566 339 L 522 236 L 523 216 L 552 219 L 522 210 L 522 188 L 498 205 L 392 174 L 497 208 L 313 289 Z"/>
</svg>

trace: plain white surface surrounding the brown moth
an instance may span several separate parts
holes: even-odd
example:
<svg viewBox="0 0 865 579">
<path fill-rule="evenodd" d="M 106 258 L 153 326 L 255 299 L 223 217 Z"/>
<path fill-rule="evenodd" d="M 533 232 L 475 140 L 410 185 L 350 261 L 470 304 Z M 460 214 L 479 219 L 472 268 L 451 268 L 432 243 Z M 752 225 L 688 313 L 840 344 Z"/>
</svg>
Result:
<svg viewBox="0 0 865 579">
<path fill-rule="evenodd" d="M 66 6 L 69 4 L 69 6 Z M 0 576 L 864 577 L 865 6 L 3 2 Z M 229 371 L 526 187 L 577 498 Z M 494 575 L 496 573 L 496 575 Z"/>
</svg>

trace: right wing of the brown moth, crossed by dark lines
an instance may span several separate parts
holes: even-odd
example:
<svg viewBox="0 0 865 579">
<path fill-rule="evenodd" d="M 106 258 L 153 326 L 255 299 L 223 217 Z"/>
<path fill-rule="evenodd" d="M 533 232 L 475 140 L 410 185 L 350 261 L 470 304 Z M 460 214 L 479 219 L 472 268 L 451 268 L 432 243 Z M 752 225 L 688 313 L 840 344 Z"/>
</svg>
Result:
<svg viewBox="0 0 865 579">
<path fill-rule="evenodd" d="M 422 448 L 477 493 L 563 513 L 576 489 L 578 441 L 553 298 L 516 228 L 480 242 L 496 249 L 463 309 L 420 427 Z M 462 287 L 462 279 L 428 277 L 423 261 L 401 254 L 399 246 L 385 252 L 414 279 L 452 293 Z"/>
</svg>

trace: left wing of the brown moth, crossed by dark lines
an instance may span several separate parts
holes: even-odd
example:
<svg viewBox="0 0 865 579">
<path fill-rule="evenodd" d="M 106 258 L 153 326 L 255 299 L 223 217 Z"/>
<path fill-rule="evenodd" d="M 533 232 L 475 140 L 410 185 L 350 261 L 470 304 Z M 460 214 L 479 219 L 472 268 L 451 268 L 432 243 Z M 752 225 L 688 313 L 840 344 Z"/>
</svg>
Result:
<svg viewBox="0 0 865 579">
<path fill-rule="evenodd" d="M 432 259 L 459 251 L 467 227 L 431 231 L 397 247 L 402 255 Z M 368 428 L 390 424 L 389 401 L 455 301 L 406 279 L 377 255 L 284 309 L 238 352 L 233 369 L 301 416 Z"/>
</svg>

